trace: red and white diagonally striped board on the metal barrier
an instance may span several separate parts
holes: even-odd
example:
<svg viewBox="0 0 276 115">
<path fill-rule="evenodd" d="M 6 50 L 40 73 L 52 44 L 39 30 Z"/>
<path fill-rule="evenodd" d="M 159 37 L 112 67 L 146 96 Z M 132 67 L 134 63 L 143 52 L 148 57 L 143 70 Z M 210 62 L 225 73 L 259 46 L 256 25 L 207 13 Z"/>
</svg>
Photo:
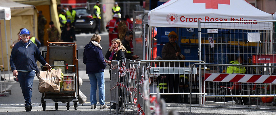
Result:
<svg viewBox="0 0 276 115">
<path fill-rule="evenodd" d="M 204 81 L 240 83 L 276 83 L 275 75 L 205 73 Z"/>
</svg>

